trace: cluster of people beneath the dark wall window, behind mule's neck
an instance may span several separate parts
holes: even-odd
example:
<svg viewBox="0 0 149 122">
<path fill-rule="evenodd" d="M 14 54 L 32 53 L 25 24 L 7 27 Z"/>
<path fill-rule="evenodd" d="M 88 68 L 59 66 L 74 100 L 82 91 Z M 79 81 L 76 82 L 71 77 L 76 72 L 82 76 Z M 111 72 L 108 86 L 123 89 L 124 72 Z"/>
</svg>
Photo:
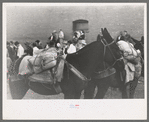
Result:
<svg viewBox="0 0 149 122">
<path fill-rule="evenodd" d="M 75 31 L 72 40 L 65 40 L 64 32 L 62 31 L 62 29 L 60 29 L 59 32 L 54 30 L 49 37 L 45 48 L 49 48 L 48 43 L 50 42 L 53 42 L 56 48 L 62 49 L 64 54 L 75 53 L 76 51 L 82 49 L 85 45 L 87 45 L 85 40 L 85 33 L 83 30 Z"/>
</svg>

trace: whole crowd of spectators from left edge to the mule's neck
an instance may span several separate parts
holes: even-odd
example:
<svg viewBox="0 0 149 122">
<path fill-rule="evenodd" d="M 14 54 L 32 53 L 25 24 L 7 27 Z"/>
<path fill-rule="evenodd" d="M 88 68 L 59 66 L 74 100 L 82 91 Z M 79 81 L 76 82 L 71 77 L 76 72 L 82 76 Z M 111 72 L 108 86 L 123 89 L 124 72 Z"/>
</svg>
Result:
<svg viewBox="0 0 149 122">
<path fill-rule="evenodd" d="M 62 29 L 57 32 L 54 30 L 47 40 L 45 46 L 42 45 L 40 40 L 34 42 L 25 42 L 25 48 L 18 41 L 7 42 L 7 62 L 11 62 L 11 68 L 9 72 L 13 69 L 13 66 L 17 59 L 20 59 L 26 55 L 37 56 L 41 51 L 48 50 L 49 48 L 55 48 L 58 53 L 65 55 L 75 53 L 76 51 L 82 49 L 87 45 L 85 41 L 85 33 L 83 30 L 75 31 L 72 40 L 66 40 L 64 32 Z M 9 60 L 9 61 L 8 61 Z M 8 66 L 9 67 L 9 66 Z"/>
</svg>

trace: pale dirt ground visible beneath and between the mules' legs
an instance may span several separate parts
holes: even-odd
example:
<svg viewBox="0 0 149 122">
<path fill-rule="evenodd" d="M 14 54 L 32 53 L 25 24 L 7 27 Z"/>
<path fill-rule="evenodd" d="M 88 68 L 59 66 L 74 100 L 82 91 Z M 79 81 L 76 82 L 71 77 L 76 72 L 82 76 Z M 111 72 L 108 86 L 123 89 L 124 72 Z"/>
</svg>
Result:
<svg viewBox="0 0 149 122">
<path fill-rule="evenodd" d="M 19 87 L 19 86 L 17 86 L 17 87 Z M 17 87 L 15 87 L 15 88 L 17 88 Z M 21 89 L 21 90 L 23 91 L 25 89 Z M 15 94 L 15 92 L 16 92 L 16 94 Z M 20 92 L 20 94 L 18 94 L 18 90 L 16 90 L 15 92 L 14 92 L 15 95 L 13 94 L 13 96 L 15 96 L 16 99 L 19 99 L 19 95 L 22 95 L 21 92 Z M 97 89 L 95 90 L 95 93 L 96 92 L 97 92 Z M 83 99 L 83 97 L 84 97 L 84 95 L 82 92 L 81 99 Z M 9 89 L 9 84 L 7 84 L 7 98 L 12 99 L 12 94 Z M 105 97 L 104 97 L 104 99 L 121 99 L 121 98 L 122 97 L 121 97 L 120 91 L 118 89 L 113 89 L 113 88 L 109 88 Z M 141 77 L 139 79 L 139 83 L 135 90 L 134 99 L 143 99 L 143 98 L 144 98 L 144 78 Z M 35 93 L 31 89 L 29 89 L 23 95 L 23 99 L 64 99 L 64 94 L 60 93 L 60 94 L 56 94 L 56 95 L 41 95 L 41 94 Z"/>
</svg>

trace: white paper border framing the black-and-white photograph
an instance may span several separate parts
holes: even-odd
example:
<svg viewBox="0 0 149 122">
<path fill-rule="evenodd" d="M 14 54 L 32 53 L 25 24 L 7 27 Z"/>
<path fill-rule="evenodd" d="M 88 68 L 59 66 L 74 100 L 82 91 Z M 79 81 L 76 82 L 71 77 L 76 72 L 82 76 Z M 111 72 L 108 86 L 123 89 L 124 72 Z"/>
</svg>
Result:
<svg viewBox="0 0 149 122">
<path fill-rule="evenodd" d="M 8 100 L 6 84 L 6 7 L 8 6 L 97 6 L 101 3 L 3 3 L 3 119 L 4 120 L 146 120 L 147 119 L 147 52 L 145 52 L 144 99 L 124 100 Z M 102 5 L 116 3 L 102 3 Z M 120 3 L 119 5 L 131 3 Z M 147 4 L 144 5 L 144 50 L 147 51 Z M 70 108 L 78 104 L 79 109 Z"/>
</svg>

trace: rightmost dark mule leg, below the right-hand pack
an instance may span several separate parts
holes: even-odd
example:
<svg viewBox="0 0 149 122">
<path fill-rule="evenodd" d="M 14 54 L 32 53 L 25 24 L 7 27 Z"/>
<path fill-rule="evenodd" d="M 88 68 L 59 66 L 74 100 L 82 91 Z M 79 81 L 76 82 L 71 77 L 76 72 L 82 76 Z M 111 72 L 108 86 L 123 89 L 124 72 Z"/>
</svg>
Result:
<svg viewBox="0 0 149 122">
<path fill-rule="evenodd" d="M 138 85 L 138 79 L 134 78 L 134 80 L 130 82 L 129 98 L 134 98 L 134 93 L 137 85 Z"/>
</svg>

